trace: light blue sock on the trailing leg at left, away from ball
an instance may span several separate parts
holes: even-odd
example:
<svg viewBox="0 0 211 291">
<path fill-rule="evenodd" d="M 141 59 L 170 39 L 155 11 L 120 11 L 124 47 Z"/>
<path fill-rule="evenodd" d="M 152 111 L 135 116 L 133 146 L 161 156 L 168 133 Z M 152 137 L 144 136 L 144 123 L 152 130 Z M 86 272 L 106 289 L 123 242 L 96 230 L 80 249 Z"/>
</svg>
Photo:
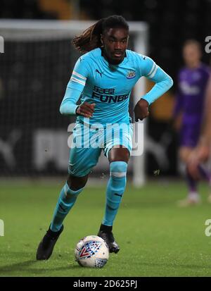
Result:
<svg viewBox="0 0 211 291">
<path fill-rule="evenodd" d="M 63 220 L 65 216 L 68 214 L 72 206 L 75 204 L 77 196 L 80 192 L 82 192 L 84 188 L 79 189 L 77 191 L 73 191 L 68 186 L 66 182 L 63 189 L 60 192 L 60 196 L 58 198 L 58 202 L 56 204 L 56 209 L 53 213 L 53 219 L 51 221 L 51 230 L 58 231 L 60 230 Z"/>
</svg>

